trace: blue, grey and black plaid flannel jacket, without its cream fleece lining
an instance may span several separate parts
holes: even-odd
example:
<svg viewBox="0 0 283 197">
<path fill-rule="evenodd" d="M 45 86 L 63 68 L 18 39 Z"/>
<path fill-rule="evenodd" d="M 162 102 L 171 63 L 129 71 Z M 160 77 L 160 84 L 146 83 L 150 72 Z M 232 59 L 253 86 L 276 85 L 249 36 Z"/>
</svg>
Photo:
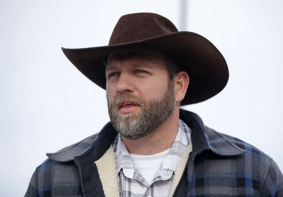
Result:
<svg viewBox="0 0 283 197">
<path fill-rule="evenodd" d="M 180 110 L 180 118 L 191 128 L 193 151 L 174 196 L 283 196 L 282 173 L 269 156 L 205 126 L 195 113 Z M 94 162 L 116 135 L 108 123 L 98 134 L 47 154 L 25 196 L 105 196 Z"/>
</svg>

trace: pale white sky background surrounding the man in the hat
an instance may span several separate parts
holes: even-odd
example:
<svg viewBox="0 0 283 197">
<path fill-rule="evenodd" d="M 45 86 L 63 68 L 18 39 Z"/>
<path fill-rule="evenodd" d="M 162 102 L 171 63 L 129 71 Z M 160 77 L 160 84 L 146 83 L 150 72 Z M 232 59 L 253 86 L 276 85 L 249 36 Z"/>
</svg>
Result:
<svg viewBox="0 0 283 197">
<path fill-rule="evenodd" d="M 108 45 L 120 16 L 154 12 L 180 27 L 180 1 L 1 1 L 0 196 L 23 196 L 47 156 L 109 121 L 105 91 L 60 47 Z M 230 78 L 191 106 L 204 123 L 270 155 L 283 170 L 283 1 L 190 1 L 187 31 L 209 39 Z"/>
</svg>

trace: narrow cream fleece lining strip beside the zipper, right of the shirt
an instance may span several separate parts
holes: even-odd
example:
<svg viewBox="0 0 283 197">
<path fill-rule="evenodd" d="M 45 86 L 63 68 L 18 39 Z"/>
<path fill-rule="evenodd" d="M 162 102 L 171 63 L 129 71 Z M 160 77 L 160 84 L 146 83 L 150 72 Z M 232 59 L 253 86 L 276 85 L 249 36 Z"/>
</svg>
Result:
<svg viewBox="0 0 283 197">
<path fill-rule="evenodd" d="M 181 179 L 181 176 L 185 170 L 185 166 L 186 166 L 186 163 L 187 163 L 187 160 L 188 160 L 188 157 L 189 157 L 189 154 L 190 152 L 193 150 L 193 145 L 192 144 L 189 144 L 189 146 L 186 148 L 186 150 L 184 151 L 177 167 L 176 167 L 176 170 L 175 170 L 175 174 L 173 176 L 173 182 L 172 182 L 172 186 L 171 186 L 171 190 L 169 192 L 169 196 L 172 197 L 173 196 L 173 193 Z"/>
</svg>

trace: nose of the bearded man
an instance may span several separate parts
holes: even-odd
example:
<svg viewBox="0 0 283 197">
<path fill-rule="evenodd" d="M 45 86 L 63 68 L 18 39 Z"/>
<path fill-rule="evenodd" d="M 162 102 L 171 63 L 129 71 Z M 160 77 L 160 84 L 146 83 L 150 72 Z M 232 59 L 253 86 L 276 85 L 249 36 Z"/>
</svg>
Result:
<svg viewBox="0 0 283 197">
<path fill-rule="evenodd" d="M 134 92 L 134 86 L 129 73 L 121 73 L 116 87 L 120 93 Z"/>
</svg>

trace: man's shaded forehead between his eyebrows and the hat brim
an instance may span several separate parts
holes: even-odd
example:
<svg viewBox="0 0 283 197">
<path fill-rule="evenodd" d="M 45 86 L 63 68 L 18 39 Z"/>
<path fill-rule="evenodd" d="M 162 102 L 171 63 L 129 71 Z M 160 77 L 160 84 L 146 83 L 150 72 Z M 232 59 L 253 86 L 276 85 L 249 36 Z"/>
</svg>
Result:
<svg viewBox="0 0 283 197">
<path fill-rule="evenodd" d="M 157 51 L 119 51 L 108 55 L 106 68 L 115 66 L 123 61 L 144 65 L 163 65 L 163 59 L 164 55 Z"/>
</svg>

